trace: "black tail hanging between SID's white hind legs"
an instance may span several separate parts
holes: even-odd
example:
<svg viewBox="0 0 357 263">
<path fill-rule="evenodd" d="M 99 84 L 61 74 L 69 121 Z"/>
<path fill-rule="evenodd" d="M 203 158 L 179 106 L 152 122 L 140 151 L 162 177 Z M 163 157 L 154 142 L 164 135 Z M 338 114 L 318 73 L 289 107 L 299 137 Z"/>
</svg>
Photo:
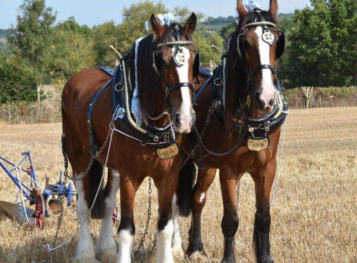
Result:
<svg viewBox="0 0 357 263">
<path fill-rule="evenodd" d="M 89 171 L 89 183 L 88 183 L 88 195 L 89 195 L 89 208 L 92 206 L 95 195 L 98 191 L 98 196 L 95 199 L 94 206 L 91 210 L 91 217 L 94 219 L 101 219 L 104 217 L 105 211 L 105 194 L 104 194 L 104 182 L 100 182 L 102 179 L 103 165 L 93 160 L 93 164 Z"/>
</svg>

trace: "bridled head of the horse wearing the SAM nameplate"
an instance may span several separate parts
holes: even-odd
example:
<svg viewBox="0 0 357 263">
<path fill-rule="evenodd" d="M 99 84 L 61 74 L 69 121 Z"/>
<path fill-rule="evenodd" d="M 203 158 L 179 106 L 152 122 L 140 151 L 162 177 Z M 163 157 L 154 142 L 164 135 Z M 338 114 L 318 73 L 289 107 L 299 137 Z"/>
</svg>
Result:
<svg viewBox="0 0 357 263">
<path fill-rule="evenodd" d="M 237 51 L 247 74 L 247 89 L 258 111 L 270 112 L 276 101 L 277 60 L 285 49 L 285 35 L 277 31 L 278 4 L 270 0 L 269 11 L 254 8 L 248 12 L 237 1 L 239 24 Z"/>
</svg>

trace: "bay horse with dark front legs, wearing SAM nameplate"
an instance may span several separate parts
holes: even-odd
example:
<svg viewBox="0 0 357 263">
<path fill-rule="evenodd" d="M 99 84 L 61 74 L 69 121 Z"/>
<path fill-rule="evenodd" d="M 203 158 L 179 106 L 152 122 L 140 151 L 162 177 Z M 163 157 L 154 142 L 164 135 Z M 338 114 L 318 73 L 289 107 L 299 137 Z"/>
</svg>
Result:
<svg viewBox="0 0 357 263">
<path fill-rule="evenodd" d="M 231 35 L 227 54 L 225 106 L 222 106 L 224 107 L 224 124 L 212 116 L 202 142 L 207 149 L 215 152 L 233 149 L 236 142 L 240 143 L 226 155 L 205 155 L 205 168 L 198 171 L 197 181 L 192 193 L 187 189 L 190 189 L 189 183 L 194 181 L 192 177 L 196 173 L 193 162 L 190 163 L 189 161 L 188 165 L 180 171 L 178 189 L 173 203 L 176 202 L 180 206 L 180 214 L 183 216 L 188 216 L 190 210 L 192 212 L 189 244 L 186 251 L 190 258 L 198 257 L 205 261 L 208 260 L 201 240 L 201 213 L 206 203 L 207 189 L 213 182 L 217 169 L 219 169 L 223 200 L 221 227 L 224 236 L 224 253 L 221 262 L 236 262 L 234 238 L 239 224 L 236 209 L 236 187 L 242 175 L 246 172 L 251 175 L 255 183 L 256 212 L 253 247 L 256 261 L 258 263 L 273 262 L 269 241 L 271 224 L 270 191 L 276 172 L 280 126 L 276 131 L 269 134 L 270 145 L 264 151 L 248 150 L 246 146 L 247 136 L 242 129 L 239 132 L 233 132 L 232 127 L 237 123 L 237 120 L 241 120 L 242 115 L 259 118 L 273 110 L 273 105 L 277 99 L 274 70 L 282 49 L 285 48 L 285 35 L 284 37 L 279 36 L 275 27 L 277 10 L 276 0 L 270 0 L 269 11 L 255 9 L 251 12 L 245 9 L 242 0 L 237 1 L 239 23 L 235 32 Z M 265 22 L 259 25 L 259 21 Z M 256 24 L 250 24 L 255 22 Z M 266 25 L 268 27 L 265 27 Z M 265 30 L 270 30 L 276 40 L 272 45 L 263 41 L 262 34 Z M 207 80 L 207 77 L 201 75 L 200 77 L 202 77 L 201 83 Z M 249 86 L 247 79 L 250 80 Z M 195 85 L 195 90 L 199 90 L 201 86 Z M 247 99 L 247 96 L 252 98 L 252 102 Z M 202 131 L 205 127 L 206 116 L 209 114 L 211 104 L 211 90 L 205 88 L 197 98 L 197 106 L 195 106 L 198 131 Z M 188 148 L 186 148 L 187 150 Z M 176 217 L 177 215 L 174 215 L 174 218 Z M 174 220 L 175 222 L 178 223 Z M 175 229 L 180 230 L 180 227 L 175 226 Z M 173 247 L 182 246 L 181 243 L 181 236 L 177 231 L 173 236 Z"/>
</svg>

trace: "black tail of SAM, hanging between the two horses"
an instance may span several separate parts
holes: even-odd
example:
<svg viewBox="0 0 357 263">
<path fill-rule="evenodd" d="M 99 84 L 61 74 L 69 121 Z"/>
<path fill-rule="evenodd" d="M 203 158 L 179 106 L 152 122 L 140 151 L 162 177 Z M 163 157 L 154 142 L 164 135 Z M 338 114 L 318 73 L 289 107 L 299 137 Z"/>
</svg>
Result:
<svg viewBox="0 0 357 263">
<path fill-rule="evenodd" d="M 183 217 L 188 217 L 191 213 L 192 188 L 196 177 L 195 163 L 192 159 L 187 163 L 180 170 L 176 189 L 178 211 Z"/>
</svg>

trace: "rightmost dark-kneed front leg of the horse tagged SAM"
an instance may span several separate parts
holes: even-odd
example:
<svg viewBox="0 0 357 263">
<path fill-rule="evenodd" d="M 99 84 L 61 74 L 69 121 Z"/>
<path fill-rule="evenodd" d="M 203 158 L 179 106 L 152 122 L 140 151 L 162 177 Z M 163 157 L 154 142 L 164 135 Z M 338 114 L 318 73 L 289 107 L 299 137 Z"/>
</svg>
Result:
<svg viewBox="0 0 357 263">
<path fill-rule="evenodd" d="M 266 168 L 252 175 L 255 183 L 256 213 L 253 231 L 253 247 L 258 263 L 273 263 L 270 254 L 270 190 L 276 171 L 275 157 Z"/>
</svg>

